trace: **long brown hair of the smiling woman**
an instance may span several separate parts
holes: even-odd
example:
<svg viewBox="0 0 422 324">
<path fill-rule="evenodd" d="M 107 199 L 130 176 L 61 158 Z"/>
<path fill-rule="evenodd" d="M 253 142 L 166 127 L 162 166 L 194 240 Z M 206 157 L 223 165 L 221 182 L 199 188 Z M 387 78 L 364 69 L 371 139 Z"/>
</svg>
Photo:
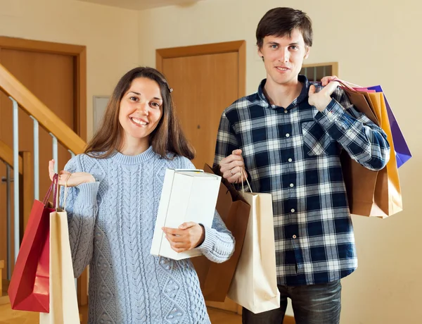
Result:
<svg viewBox="0 0 422 324">
<path fill-rule="evenodd" d="M 122 76 L 108 101 L 101 125 L 89 141 L 84 153 L 94 158 L 108 158 L 122 147 L 123 129 L 119 122 L 120 101 L 129 90 L 132 81 L 138 77 L 146 77 L 160 86 L 162 116 L 149 137 L 150 145 L 155 153 L 167 159 L 171 159 L 175 155 L 193 159 L 195 151 L 184 136 L 179 120 L 174 114 L 174 104 L 168 82 L 162 73 L 148 67 L 134 68 Z"/>
</svg>

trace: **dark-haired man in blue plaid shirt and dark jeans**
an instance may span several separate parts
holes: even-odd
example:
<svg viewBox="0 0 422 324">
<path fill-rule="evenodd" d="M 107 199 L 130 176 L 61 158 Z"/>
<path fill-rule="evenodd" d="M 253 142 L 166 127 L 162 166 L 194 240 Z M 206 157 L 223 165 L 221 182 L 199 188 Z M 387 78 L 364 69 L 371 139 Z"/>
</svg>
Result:
<svg viewBox="0 0 422 324">
<path fill-rule="evenodd" d="M 296 323 L 337 324 L 340 279 L 357 268 L 340 151 L 381 170 L 390 146 L 333 77 L 321 87 L 299 75 L 312 46 L 305 13 L 271 9 L 256 36 L 267 79 L 222 113 L 215 166 L 233 183 L 244 168 L 254 192 L 272 194 L 281 307 L 243 309 L 243 323 L 282 323 L 289 297 Z"/>
</svg>

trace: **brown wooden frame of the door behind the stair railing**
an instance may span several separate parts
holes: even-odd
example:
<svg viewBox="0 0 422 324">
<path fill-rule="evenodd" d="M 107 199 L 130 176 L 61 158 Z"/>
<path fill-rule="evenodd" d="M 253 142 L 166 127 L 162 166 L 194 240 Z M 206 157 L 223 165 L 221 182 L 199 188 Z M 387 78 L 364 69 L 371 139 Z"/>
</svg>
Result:
<svg viewBox="0 0 422 324">
<path fill-rule="evenodd" d="M 87 142 L 87 46 L 0 36 L 0 51 L 1 49 L 18 49 L 73 57 L 74 75 L 76 75 L 73 130 Z"/>
</svg>

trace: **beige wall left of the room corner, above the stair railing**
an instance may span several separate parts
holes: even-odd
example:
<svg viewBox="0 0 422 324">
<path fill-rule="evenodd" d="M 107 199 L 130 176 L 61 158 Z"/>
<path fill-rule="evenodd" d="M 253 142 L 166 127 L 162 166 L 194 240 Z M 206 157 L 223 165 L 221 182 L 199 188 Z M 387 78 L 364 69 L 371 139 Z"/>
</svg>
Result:
<svg viewBox="0 0 422 324">
<path fill-rule="evenodd" d="M 138 12 L 75 0 L 0 0 L 0 35 L 87 46 L 87 125 L 92 96 L 108 95 L 139 60 Z"/>
</svg>

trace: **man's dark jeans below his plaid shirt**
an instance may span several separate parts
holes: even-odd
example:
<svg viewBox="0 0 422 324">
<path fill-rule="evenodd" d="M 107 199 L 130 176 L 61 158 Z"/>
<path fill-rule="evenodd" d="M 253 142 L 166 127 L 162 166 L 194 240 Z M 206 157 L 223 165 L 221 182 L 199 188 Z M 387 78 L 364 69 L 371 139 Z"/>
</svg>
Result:
<svg viewBox="0 0 422 324">
<path fill-rule="evenodd" d="M 341 310 L 340 280 L 322 285 L 279 286 L 280 308 L 254 314 L 243 308 L 243 324 L 281 324 L 292 300 L 296 324 L 338 324 Z"/>
</svg>

